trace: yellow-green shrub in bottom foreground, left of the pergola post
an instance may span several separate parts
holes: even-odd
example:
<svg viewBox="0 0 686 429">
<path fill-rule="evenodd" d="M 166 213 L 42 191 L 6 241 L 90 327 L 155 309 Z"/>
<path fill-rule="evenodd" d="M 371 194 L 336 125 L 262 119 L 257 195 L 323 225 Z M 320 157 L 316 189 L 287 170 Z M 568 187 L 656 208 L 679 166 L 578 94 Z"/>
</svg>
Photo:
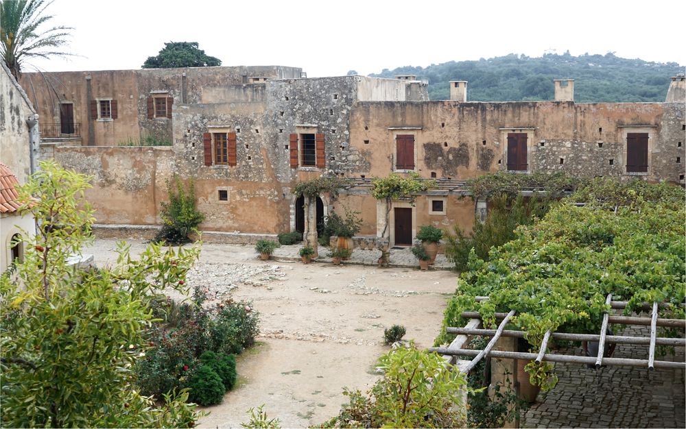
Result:
<svg viewBox="0 0 686 429">
<path fill-rule="evenodd" d="M 399 347 L 379 358 L 383 378 L 367 395 L 343 390 L 350 402 L 326 427 L 464 428 L 464 376 L 436 353 Z"/>
</svg>

